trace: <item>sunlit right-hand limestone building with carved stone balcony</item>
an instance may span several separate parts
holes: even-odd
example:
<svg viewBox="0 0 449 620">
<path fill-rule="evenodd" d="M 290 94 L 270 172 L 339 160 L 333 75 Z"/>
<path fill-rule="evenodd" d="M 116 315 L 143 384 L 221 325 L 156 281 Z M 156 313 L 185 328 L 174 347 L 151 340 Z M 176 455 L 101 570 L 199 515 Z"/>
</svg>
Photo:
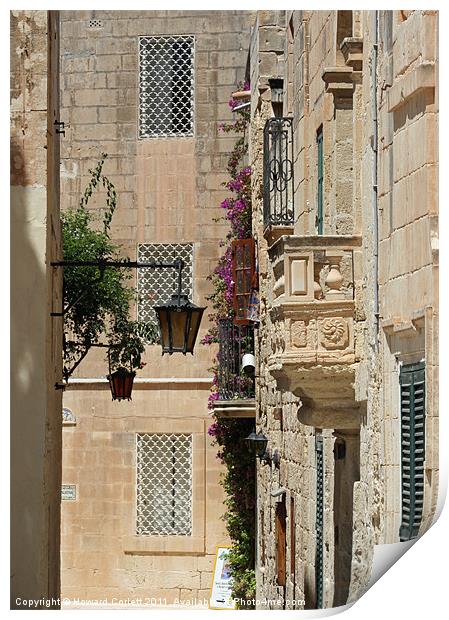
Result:
<svg viewBox="0 0 449 620">
<path fill-rule="evenodd" d="M 252 28 L 256 572 L 273 608 L 356 600 L 375 545 L 432 522 L 437 32 L 435 11 L 259 11 Z"/>
</svg>

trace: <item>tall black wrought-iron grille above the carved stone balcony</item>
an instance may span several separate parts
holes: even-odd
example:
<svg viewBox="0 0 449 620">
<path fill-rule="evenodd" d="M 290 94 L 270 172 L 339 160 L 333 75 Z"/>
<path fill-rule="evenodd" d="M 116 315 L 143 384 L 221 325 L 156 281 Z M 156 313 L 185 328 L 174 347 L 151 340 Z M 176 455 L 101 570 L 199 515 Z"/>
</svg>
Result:
<svg viewBox="0 0 449 620">
<path fill-rule="evenodd" d="M 293 119 L 267 120 L 263 132 L 264 226 L 293 226 Z"/>
</svg>

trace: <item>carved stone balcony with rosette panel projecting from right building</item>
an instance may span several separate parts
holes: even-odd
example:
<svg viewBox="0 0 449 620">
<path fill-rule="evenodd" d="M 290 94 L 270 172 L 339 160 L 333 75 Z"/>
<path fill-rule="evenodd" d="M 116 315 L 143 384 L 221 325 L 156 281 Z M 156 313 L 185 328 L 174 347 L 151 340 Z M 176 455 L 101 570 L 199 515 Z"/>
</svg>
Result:
<svg viewBox="0 0 449 620">
<path fill-rule="evenodd" d="M 329 426 L 332 411 L 335 424 L 352 428 L 361 237 L 283 236 L 269 258 L 270 373 L 301 398 L 304 422 Z"/>
</svg>

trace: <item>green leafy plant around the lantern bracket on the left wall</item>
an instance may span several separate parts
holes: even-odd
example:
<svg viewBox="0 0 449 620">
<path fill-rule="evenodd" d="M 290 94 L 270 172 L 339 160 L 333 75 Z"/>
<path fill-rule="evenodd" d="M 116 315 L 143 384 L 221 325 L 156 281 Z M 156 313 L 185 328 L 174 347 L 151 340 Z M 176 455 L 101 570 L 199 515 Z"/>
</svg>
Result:
<svg viewBox="0 0 449 620">
<path fill-rule="evenodd" d="M 123 260 L 119 247 L 110 237 L 110 227 L 117 206 L 112 182 L 102 173 L 106 154 L 90 170 L 91 179 L 81 197 L 79 207 L 68 209 L 62 216 L 62 238 L 65 261 Z M 106 189 L 106 210 L 99 229 L 87 209 L 94 190 Z M 142 367 L 146 343 L 157 342 L 154 323 L 131 320 L 130 307 L 136 301 L 129 285 L 132 273 L 125 268 L 64 268 L 64 377 L 67 379 L 88 350 L 100 343 L 110 345 L 111 369 L 120 366 Z M 106 341 L 106 342 L 105 342 Z"/>
</svg>

